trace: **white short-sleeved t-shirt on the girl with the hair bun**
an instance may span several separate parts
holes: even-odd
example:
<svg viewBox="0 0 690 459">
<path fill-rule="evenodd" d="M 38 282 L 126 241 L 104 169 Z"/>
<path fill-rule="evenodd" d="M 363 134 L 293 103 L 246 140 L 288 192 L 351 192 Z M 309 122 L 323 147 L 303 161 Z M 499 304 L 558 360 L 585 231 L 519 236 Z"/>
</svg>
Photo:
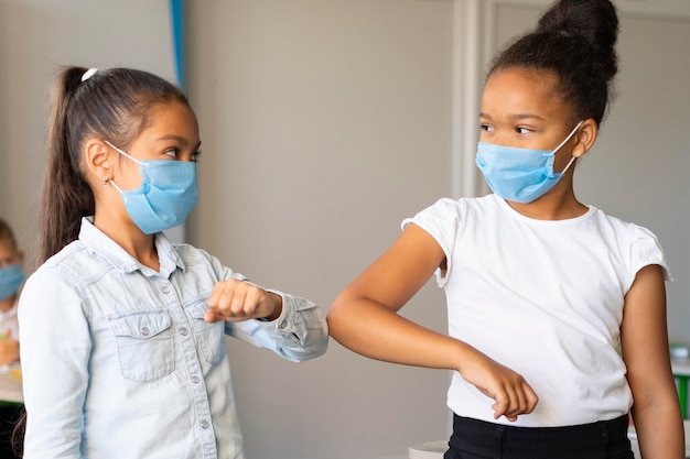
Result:
<svg viewBox="0 0 690 459">
<path fill-rule="evenodd" d="M 638 270 L 659 264 L 645 228 L 591 207 L 581 217 L 535 220 L 488 195 L 440 199 L 412 219 L 445 252 L 449 335 L 520 373 L 539 396 L 513 425 L 565 426 L 625 415 L 633 398 L 619 353 L 624 297 Z M 494 401 L 455 372 L 449 407 L 493 417 Z"/>
</svg>

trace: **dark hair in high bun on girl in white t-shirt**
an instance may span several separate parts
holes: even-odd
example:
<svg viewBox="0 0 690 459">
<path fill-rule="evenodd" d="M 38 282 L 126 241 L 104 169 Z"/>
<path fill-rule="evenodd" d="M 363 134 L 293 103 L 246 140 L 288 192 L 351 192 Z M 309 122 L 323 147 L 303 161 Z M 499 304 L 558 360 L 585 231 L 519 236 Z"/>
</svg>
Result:
<svg viewBox="0 0 690 459">
<path fill-rule="evenodd" d="M 574 117 L 601 124 L 618 72 L 617 37 L 618 17 L 610 0 L 560 0 L 535 31 L 498 54 L 488 75 L 511 67 L 553 72 Z"/>
</svg>

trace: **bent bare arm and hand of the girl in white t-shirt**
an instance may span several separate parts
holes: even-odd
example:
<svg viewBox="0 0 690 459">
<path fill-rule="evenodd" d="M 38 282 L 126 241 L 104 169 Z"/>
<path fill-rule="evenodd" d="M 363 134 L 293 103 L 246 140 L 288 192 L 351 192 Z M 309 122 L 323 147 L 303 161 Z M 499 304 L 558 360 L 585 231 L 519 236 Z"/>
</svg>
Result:
<svg viewBox="0 0 690 459">
<path fill-rule="evenodd" d="M 459 371 L 495 400 L 495 418 L 515 420 L 531 413 L 538 397 L 522 376 L 467 343 L 397 314 L 444 263 L 445 254 L 436 241 L 420 227 L 408 226 L 393 245 L 337 296 L 326 317 L 331 336 L 373 359 Z"/>
</svg>

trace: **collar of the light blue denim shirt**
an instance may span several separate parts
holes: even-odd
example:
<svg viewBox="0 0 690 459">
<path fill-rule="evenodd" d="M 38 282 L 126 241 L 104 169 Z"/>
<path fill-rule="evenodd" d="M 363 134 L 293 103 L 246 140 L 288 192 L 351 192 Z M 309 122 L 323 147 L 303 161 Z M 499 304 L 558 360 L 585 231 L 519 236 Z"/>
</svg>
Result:
<svg viewBox="0 0 690 459">
<path fill-rule="evenodd" d="M 106 236 L 94 226 L 94 217 L 84 217 L 79 229 L 79 241 L 82 241 L 91 253 L 106 259 L 116 270 L 123 273 L 131 273 L 137 270 L 147 276 L 161 275 L 165 278 L 177 267 L 185 270 L 184 262 L 175 250 L 174 245 L 162 232 L 153 236 L 153 243 L 158 252 L 160 272 L 141 264 L 137 259 L 127 253 L 117 242 Z"/>
</svg>

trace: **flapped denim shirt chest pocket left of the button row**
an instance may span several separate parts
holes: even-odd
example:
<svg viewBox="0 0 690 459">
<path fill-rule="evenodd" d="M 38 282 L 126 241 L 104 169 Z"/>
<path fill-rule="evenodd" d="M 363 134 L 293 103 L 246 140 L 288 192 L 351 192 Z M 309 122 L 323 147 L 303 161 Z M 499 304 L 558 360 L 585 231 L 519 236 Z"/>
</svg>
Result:
<svg viewBox="0 0 690 459">
<path fill-rule="evenodd" d="M 108 323 L 117 340 L 125 379 L 149 382 L 174 371 L 172 319 L 168 312 L 120 313 L 109 316 Z"/>
</svg>

